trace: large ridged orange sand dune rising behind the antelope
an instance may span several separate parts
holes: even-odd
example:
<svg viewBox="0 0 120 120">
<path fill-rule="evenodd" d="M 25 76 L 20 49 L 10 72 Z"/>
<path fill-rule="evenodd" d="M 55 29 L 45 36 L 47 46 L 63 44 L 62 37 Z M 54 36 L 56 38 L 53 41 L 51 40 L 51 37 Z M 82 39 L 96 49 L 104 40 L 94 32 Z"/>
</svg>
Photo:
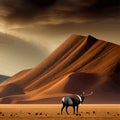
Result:
<svg viewBox="0 0 120 120">
<path fill-rule="evenodd" d="M 94 94 L 85 103 L 120 104 L 120 46 L 71 35 L 32 69 L 0 84 L 0 103 L 61 103 L 64 95 Z"/>
</svg>

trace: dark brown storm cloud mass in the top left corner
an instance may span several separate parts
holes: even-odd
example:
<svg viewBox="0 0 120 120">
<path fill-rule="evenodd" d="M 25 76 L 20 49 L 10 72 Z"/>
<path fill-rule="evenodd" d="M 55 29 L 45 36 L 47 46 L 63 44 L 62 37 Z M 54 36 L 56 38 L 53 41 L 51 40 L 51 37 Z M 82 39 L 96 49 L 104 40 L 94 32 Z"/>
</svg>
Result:
<svg viewBox="0 0 120 120">
<path fill-rule="evenodd" d="M 56 0 L 0 0 L 0 17 L 13 22 L 32 21 L 53 6 Z"/>
</svg>

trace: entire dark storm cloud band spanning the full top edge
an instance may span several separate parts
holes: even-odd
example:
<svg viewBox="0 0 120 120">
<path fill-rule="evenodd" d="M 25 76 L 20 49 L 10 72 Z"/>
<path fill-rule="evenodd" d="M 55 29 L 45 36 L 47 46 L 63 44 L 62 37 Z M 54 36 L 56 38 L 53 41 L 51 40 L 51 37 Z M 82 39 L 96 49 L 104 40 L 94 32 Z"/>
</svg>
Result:
<svg viewBox="0 0 120 120">
<path fill-rule="evenodd" d="M 120 0 L 0 0 L 0 18 L 9 23 L 79 22 L 119 17 Z"/>
</svg>

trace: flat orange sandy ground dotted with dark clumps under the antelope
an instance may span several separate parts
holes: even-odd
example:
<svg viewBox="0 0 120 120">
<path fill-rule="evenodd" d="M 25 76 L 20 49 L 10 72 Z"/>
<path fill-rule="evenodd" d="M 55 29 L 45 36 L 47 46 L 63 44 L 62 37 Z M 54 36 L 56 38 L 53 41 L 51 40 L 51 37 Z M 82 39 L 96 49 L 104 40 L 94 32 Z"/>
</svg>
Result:
<svg viewBox="0 0 120 120">
<path fill-rule="evenodd" d="M 60 114 L 61 104 L 1 104 L 0 120 L 120 120 L 120 104 L 84 104 Z"/>
</svg>

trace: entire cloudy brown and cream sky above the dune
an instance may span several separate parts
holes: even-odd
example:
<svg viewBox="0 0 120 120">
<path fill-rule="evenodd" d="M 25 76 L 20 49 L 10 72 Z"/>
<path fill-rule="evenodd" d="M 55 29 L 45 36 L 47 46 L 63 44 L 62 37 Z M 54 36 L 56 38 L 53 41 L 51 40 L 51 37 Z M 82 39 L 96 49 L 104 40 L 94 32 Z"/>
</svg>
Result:
<svg viewBox="0 0 120 120">
<path fill-rule="evenodd" d="M 39 64 L 71 34 L 120 45 L 120 0 L 0 0 L 0 74 Z"/>
</svg>

